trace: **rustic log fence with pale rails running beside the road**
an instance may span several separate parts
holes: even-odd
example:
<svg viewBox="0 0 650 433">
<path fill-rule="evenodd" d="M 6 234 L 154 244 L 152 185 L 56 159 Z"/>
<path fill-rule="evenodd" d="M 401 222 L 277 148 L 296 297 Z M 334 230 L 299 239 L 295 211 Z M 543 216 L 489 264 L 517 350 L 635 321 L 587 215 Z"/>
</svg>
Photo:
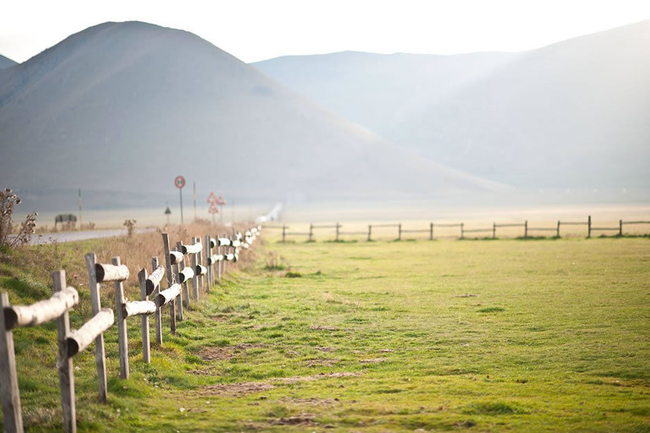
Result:
<svg viewBox="0 0 650 433">
<path fill-rule="evenodd" d="M 21 402 L 18 389 L 16 358 L 13 343 L 14 328 L 36 326 L 47 321 L 56 321 L 58 335 L 58 358 L 56 367 L 59 375 L 61 406 L 63 411 L 63 430 L 76 432 L 76 409 L 74 400 L 74 368 L 72 358 L 83 352 L 95 342 L 95 361 L 99 380 L 99 398 L 105 402 L 106 362 L 103 332 L 117 324 L 119 348 L 119 375 L 128 379 L 128 341 L 126 334 L 127 319 L 141 316 L 142 357 L 144 362 L 151 362 L 149 343 L 149 319 L 155 315 L 155 336 L 157 343 L 162 343 L 162 307 L 169 305 L 171 333 L 176 333 L 176 321 L 182 320 L 182 306 L 191 308 L 189 288 L 192 282 L 193 302 L 198 301 L 201 292 L 209 294 L 210 286 L 221 280 L 228 262 L 239 260 L 240 248 L 248 249 L 260 234 L 260 226 L 250 228 L 245 233 L 234 232 L 232 237 L 216 235 L 205 237 L 205 260 L 203 244 L 197 237 L 191 244 L 178 241 L 176 251 L 169 248 L 169 235 L 162 234 L 165 267 L 158 265 L 157 257 L 152 257 L 151 273 L 146 269 L 138 272 L 140 300 L 128 300 L 124 294 L 123 282 L 130 276 L 128 267 L 121 264 L 119 256 L 112 257 L 111 263 L 97 262 L 95 253 L 85 255 L 88 271 L 92 319 L 78 330 L 70 330 L 68 312 L 79 303 L 76 289 L 66 284 L 65 271 L 52 273 L 54 294 L 51 298 L 32 305 L 10 305 L 9 295 L 0 293 L 0 400 L 2 402 L 4 432 L 22 433 L 24 431 Z M 212 255 L 212 248 L 216 254 Z M 221 248 L 224 248 L 223 254 Z M 188 257 L 189 256 L 189 257 Z M 191 265 L 187 265 L 187 260 Z M 181 269 L 181 266 L 182 269 Z M 214 278 L 214 268 L 216 280 Z M 167 288 L 162 290 L 160 283 L 166 275 Z M 115 291 L 115 314 L 110 308 L 101 307 L 101 283 L 112 282 Z M 184 289 L 181 288 L 184 285 Z M 150 300 L 149 297 L 153 297 Z M 177 310 L 178 307 L 178 310 Z"/>
</svg>

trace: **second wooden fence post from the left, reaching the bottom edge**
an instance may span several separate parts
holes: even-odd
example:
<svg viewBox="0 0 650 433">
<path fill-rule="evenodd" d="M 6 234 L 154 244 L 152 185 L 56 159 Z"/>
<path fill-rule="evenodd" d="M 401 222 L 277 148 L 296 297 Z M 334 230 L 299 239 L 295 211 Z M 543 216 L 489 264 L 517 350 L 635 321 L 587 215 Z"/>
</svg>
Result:
<svg viewBox="0 0 650 433">
<path fill-rule="evenodd" d="M 52 273 L 54 293 L 67 288 L 65 271 Z M 75 433 L 77 431 L 76 409 L 74 406 L 74 369 L 72 358 L 68 356 L 67 336 L 70 333 L 70 318 L 64 312 L 56 319 L 56 334 L 59 346 L 59 355 L 56 362 L 59 373 L 59 387 L 61 390 L 61 408 L 63 409 L 63 431 Z"/>
</svg>

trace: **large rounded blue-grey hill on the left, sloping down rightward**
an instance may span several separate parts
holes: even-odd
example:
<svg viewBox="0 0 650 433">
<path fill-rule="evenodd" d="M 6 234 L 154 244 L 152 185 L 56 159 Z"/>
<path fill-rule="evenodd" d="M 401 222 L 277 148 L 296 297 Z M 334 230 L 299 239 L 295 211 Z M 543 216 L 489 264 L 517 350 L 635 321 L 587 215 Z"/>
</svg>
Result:
<svg viewBox="0 0 650 433">
<path fill-rule="evenodd" d="M 503 191 L 411 155 L 185 31 L 105 23 L 0 71 L 0 185 L 248 197 Z M 117 198 L 116 198 L 117 200 Z"/>
</svg>

